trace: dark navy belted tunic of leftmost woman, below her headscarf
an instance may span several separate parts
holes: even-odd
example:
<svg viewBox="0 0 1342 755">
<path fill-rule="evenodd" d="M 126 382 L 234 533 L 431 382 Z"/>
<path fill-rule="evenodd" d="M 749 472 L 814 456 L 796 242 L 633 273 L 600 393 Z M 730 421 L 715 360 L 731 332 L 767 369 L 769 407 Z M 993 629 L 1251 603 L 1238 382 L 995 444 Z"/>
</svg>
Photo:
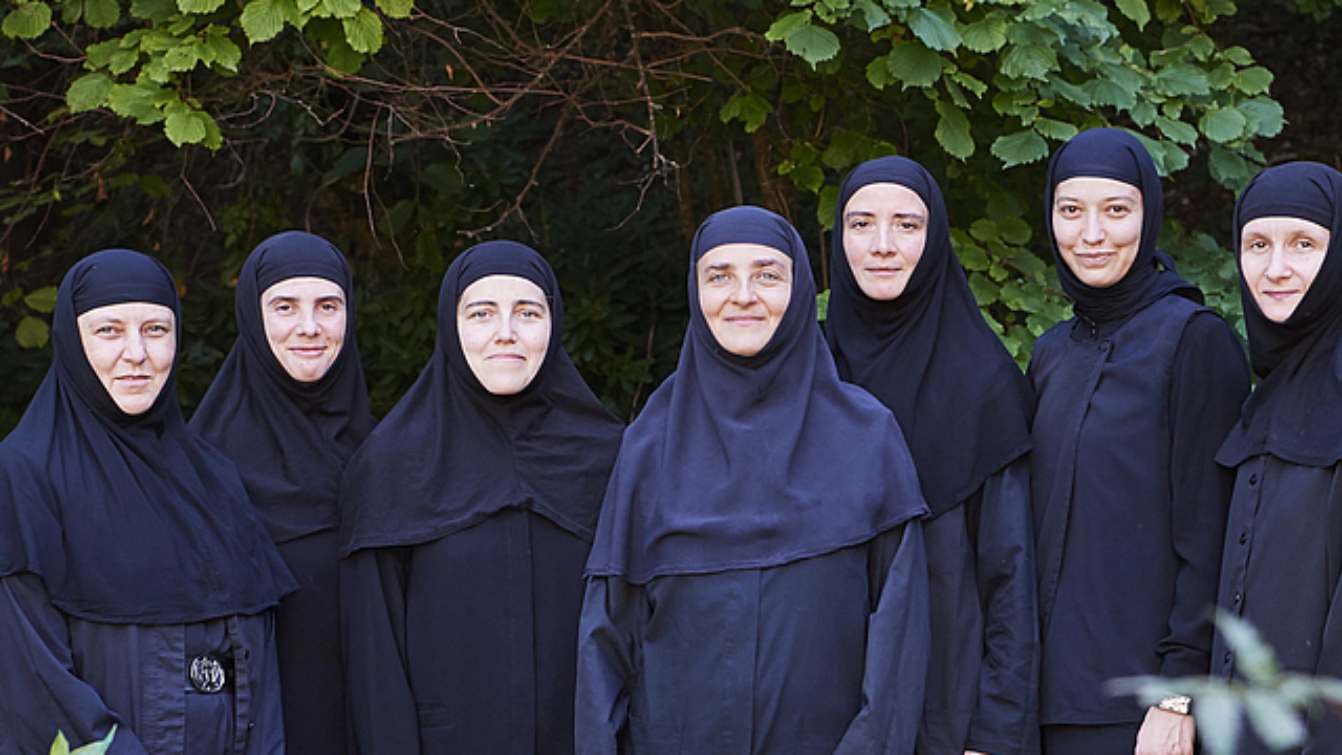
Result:
<svg viewBox="0 0 1342 755">
<path fill-rule="evenodd" d="M 185 625 L 105 623 L 63 614 L 34 574 L 0 579 L 0 752 L 71 748 L 115 724 L 109 755 L 283 755 L 271 611 Z M 220 692 L 199 692 L 191 661 L 231 665 Z"/>
</svg>

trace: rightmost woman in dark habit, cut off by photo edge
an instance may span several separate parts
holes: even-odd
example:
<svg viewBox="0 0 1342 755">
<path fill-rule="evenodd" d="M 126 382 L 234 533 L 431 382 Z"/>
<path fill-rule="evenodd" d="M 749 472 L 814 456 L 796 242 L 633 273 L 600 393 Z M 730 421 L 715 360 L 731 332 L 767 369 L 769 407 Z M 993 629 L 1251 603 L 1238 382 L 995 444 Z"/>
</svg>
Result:
<svg viewBox="0 0 1342 755">
<path fill-rule="evenodd" d="M 1342 173 L 1288 163 L 1257 175 L 1235 218 L 1249 357 L 1259 376 L 1216 461 L 1235 470 L 1221 610 L 1248 619 L 1282 668 L 1342 677 Z M 1334 614 L 1333 611 L 1338 611 Z M 1217 637 L 1216 676 L 1239 676 Z M 1335 752 L 1321 705 L 1303 748 Z M 1239 752 L 1271 752 L 1255 735 Z"/>
</svg>

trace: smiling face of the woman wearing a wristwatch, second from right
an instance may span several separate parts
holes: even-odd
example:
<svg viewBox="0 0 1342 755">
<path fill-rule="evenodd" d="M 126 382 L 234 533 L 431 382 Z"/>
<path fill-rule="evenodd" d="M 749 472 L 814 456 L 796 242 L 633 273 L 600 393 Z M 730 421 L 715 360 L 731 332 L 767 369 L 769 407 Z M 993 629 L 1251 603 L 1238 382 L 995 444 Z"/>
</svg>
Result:
<svg viewBox="0 0 1342 755">
<path fill-rule="evenodd" d="M 1142 245 L 1142 192 L 1113 179 L 1067 179 L 1053 189 L 1053 240 L 1080 282 L 1113 286 Z"/>
</svg>

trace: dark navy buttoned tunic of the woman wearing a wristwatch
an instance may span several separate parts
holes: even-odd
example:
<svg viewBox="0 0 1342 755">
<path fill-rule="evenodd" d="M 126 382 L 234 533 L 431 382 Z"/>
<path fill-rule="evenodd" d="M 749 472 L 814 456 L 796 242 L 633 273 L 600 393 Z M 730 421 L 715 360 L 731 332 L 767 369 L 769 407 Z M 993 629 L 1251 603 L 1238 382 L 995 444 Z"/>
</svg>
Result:
<svg viewBox="0 0 1342 755">
<path fill-rule="evenodd" d="M 1035 347 L 1040 720 L 1141 721 L 1104 682 L 1208 672 L 1231 476 L 1216 451 L 1248 394 L 1231 328 L 1164 296 Z"/>
</svg>

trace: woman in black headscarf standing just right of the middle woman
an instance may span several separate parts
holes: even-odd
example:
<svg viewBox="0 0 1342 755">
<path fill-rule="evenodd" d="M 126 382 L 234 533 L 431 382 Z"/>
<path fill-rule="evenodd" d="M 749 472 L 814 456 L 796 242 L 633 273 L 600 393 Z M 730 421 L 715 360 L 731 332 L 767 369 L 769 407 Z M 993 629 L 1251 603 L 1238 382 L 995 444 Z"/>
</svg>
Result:
<svg viewBox="0 0 1342 755">
<path fill-rule="evenodd" d="M 833 247 L 825 335 L 839 376 L 895 414 L 930 509 L 918 751 L 1037 754 L 1033 392 L 978 312 L 922 165 L 880 157 L 854 168 Z"/>
</svg>

